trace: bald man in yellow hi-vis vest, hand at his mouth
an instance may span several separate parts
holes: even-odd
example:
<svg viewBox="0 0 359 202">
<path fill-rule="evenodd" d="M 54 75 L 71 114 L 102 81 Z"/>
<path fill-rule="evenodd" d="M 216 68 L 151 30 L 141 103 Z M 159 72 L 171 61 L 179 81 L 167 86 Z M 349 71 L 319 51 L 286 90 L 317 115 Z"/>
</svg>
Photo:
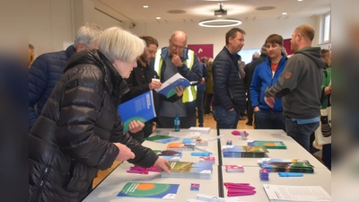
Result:
<svg viewBox="0 0 359 202">
<path fill-rule="evenodd" d="M 186 33 L 174 31 L 169 43 L 169 47 L 157 50 L 151 63 L 151 67 L 159 75 L 161 83 L 177 73 L 180 73 L 188 81 L 201 83 L 202 71 L 198 57 L 194 51 L 186 48 Z M 164 98 L 160 100 L 159 109 L 157 109 L 159 127 L 172 128 L 176 113 L 179 113 L 181 128 L 196 127 L 196 87 L 189 86 L 181 97 L 177 95 L 172 97 L 170 101 Z"/>
</svg>

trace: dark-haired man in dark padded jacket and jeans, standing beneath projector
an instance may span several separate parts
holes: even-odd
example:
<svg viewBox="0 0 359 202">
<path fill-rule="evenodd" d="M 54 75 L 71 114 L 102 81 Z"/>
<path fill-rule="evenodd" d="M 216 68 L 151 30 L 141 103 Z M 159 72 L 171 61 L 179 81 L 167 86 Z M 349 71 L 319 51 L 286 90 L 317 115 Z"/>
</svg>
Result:
<svg viewBox="0 0 359 202">
<path fill-rule="evenodd" d="M 238 66 L 245 31 L 232 28 L 225 34 L 225 46 L 212 66 L 214 79 L 213 113 L 217 128 L 237 128 L 240 114 L 246 110 L 246 94 Z"/>
</svg>

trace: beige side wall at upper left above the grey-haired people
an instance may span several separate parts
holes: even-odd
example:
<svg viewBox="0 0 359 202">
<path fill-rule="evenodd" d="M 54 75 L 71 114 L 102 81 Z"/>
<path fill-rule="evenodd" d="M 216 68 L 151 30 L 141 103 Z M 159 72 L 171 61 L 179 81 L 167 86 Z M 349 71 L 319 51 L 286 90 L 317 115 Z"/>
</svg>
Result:
<svg viewBox="0 0 359 202">
<path fill-rule="evenodd" d="M 103 29 L 122 26 L 122 22 L 95 10 L 89 0 L 37 0 L 31 6 L 29 43 L 35 46 L 36 56 L 64 49 L 64 41 L 74 41 L 84 22 L 97 23 Z"/>
</svg>

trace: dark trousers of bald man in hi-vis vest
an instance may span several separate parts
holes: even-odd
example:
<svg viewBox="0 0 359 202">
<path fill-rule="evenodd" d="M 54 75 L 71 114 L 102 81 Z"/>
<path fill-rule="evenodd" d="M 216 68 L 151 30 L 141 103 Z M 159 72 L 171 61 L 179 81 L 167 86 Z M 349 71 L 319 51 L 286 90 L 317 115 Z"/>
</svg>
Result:
<svg viewBox="0 0 359 202">
<path fill-rule="evenodd" d="M 159 128 L 174 128 L 174 117 L 157 116 L 160 122 Z M 196 127 L 196 114 L 187 115 L 187 117 L 180 117 L 180 128 Z"/>
</svg>

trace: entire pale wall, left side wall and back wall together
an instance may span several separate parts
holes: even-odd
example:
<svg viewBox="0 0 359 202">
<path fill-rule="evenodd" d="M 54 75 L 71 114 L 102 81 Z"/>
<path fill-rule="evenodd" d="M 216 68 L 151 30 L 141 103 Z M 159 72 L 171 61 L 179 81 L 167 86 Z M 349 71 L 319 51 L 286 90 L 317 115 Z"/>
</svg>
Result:
<svg viewBox="0 0 359 202">
<path fill-rule="evenodd" d="M 185 31 L 188 35 L 188 44 L 214 44 L 214 56 L 223 48 L 225 33 L 231 29 L 200 27 L 197 22 L 143 22 L 136 23 L 134 28 L 129 28 L 132 27 L 129 26 L 131 23 L 119 22 L 101 13 L 93 8 L 93 3 L 89 0 L 38 0 L 32 6 L 34 6 L 32 11 L 40 11 L 33 12 L 30 16 L 32 26 L 29 31 L 29 42 L 35 46 L 36 56 L 62 50 L 64 41 L 74 41 L 79 24 L 89 20 L 99 24 L 103 29 L 117 25 L 138 36 L 153 36 L 159 41 L 160 47 L 169 45 L 168 39 L 172 31 Z M 83 17 L 76 17 L 81 13 Z M 316 17 L 243 21 L 239 26 L 247 32 L 243 48 L 260 48 L 267 36 L 272 33 L 281 34 L 284 39 L 289 39 L 294 28 L 302 23 L 311 24 L 316 32 L 319 32 Z M 317 35 L 313 45 L 318 44 Z"/>
</svg>

